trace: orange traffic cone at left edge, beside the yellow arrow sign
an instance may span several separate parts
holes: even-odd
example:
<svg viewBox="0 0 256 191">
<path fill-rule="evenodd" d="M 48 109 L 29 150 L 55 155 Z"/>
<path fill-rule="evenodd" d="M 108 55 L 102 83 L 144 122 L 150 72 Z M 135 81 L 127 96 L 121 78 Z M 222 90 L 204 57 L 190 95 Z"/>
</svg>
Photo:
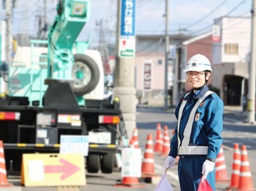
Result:
<svg viewBox="0 0 256 191">
<path fill-rule="evenodd" d="M 7 181 L 6 160 L 4 158 L 3 142 L 0 140 L 0 188 L 11 187 L 12 184 Z"/>
</svg>

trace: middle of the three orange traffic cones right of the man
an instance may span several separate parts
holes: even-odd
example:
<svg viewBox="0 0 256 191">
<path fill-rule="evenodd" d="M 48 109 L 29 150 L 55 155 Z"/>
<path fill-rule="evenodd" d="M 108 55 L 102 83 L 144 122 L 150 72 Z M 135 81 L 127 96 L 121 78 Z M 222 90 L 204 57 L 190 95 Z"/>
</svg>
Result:
<svg viewBox="0 0 256 191">
<path fill-rule="evenodd" d="M 241 163 L 241 155 L 240 155 L 239 145 L 237 143 L 235 143 L 234 144 L 234 153 L 233 153 L 231 180 L 230 180 L 230 185 L 226 188 L 227 190 L 234 189 L 234 188 L 238 187 L 240 163 Z"/>
</svg>

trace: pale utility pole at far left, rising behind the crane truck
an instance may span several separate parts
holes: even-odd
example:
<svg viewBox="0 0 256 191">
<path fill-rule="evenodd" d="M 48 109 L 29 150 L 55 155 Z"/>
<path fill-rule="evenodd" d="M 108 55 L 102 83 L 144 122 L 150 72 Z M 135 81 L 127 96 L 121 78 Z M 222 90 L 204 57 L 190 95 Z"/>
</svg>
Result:
<svg viewBox="0 0 256 191">
<path fill-rule="evenodd" d="M 6 0 L 6 48 L 4 51 L 6 51 L 7 64 L 11 62 L 11 51 L 12 51 L 11 21 L 12 21 L 12 0 Z"/>
</svg>

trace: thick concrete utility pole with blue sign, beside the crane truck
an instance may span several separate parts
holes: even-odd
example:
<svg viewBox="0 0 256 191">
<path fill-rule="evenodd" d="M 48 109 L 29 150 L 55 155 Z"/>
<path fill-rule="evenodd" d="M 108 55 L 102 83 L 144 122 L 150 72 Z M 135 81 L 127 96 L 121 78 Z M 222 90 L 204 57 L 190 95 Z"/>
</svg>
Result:
<svg viewBox="0 0 256 191">
<path fill-rule="evenodd" d="M 135 0 L 117 0 L 117 54 L 113 97 L 120 98 L 120 109 L 129 138 L 136 127 L 135 4 Z"/>
</svg>

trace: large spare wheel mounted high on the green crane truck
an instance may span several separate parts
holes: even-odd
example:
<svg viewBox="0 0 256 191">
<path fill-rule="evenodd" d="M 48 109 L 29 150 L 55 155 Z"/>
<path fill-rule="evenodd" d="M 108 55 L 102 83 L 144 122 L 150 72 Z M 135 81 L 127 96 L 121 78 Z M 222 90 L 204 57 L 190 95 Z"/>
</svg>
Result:
<svg viewBox="0 0 256 191">
<path fill-rule="evenodd" d="M 75 54 L 74 59 L 72 76 L 75 82 L 71 87 L 77 96 L 82 96 L 95 89 L 100 80 L 100 69 L 97 63 L 85 54 Z"/>
</svg>

